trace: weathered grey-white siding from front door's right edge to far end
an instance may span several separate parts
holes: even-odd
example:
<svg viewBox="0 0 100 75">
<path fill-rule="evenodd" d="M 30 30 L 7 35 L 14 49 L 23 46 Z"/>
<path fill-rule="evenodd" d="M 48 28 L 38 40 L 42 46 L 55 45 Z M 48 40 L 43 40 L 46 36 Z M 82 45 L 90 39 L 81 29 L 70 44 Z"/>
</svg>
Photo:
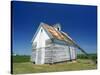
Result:
<svg viewBox="0 0 100 75">
<path fill-rule="evenodd" d="M 71 53 L 72 51 L 70 51 L 70 49 L 70 46 L 61 44 L 55 44 L 54 46 L 45 48 L 45 63 L 73 60 L 75 53 L 74 51 Z"/>
</svg>

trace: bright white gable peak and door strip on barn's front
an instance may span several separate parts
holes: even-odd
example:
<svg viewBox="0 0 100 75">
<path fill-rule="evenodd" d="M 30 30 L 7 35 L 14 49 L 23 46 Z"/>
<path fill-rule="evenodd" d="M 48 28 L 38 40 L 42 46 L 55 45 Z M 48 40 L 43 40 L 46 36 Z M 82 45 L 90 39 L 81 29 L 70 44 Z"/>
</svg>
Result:
<svg viewBox="0 0 100 75">
<path fill-rule="evenodd" d="M 47 39 L 50 39 L 50 37 L 47 35 L 43 27 L 40 27 L 34 40 L 32 41 L 32 52 L 34 52 L 34 49 L 36 52 L 35 54 L 32 53 L 31 60 L 34 60 L 36 64 L 44 64 L 45 49 L 42 48 L 45 47 L 45 41 Z"/>
</svg>

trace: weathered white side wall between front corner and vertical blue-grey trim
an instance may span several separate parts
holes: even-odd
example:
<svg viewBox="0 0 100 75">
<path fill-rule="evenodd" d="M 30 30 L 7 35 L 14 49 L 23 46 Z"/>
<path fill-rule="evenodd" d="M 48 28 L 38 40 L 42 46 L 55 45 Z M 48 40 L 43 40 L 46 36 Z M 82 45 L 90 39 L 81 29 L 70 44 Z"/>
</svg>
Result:
<svg viewBox="0 0 100 75">
<path fill-rule="evenodd" d="M 69 48 L 66 45 L 55 44 L 53 49 L 53 62 L 70 60 Z"/>
</svg>

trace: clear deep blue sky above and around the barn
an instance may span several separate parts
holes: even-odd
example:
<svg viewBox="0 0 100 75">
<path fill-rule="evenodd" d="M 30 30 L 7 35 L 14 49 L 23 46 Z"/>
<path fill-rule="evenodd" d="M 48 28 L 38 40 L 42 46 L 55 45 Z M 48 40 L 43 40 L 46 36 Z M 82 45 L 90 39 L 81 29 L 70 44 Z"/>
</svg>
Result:
<svg viewBox="0 0 100 75">
<path fill-rule="evenodd" d="M 97 7 L 35 2 L 12 2 L 13 52 L 31 54 L 31 40 L 40 22 L 60 23 L 88 53 L 97 50 Z"/>
</svg>

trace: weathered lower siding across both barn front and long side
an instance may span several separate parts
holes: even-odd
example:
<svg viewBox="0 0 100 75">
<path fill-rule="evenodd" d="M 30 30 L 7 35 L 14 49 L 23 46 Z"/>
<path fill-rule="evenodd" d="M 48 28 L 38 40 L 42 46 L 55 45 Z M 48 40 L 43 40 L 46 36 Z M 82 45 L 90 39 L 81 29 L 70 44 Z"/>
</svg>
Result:
<svg viewBox="0 0 100 75">
<path fill-rule="evenodd" d="M 50 39 L 46 41 L 46 47 L 36 48 L 32 53 L 32 61 L 35 61 L 36 64 L 76 59 L 76 50 L 74 46 L 67 45 L 60 41 L 52 43 Z"/>
</svg>

